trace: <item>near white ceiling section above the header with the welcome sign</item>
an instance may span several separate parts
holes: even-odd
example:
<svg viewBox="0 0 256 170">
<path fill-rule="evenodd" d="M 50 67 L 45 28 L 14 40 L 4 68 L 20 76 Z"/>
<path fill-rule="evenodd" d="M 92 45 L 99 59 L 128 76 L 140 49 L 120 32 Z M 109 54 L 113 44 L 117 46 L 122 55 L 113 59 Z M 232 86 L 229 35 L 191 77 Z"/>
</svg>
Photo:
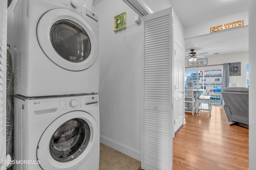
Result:
<svg viewBox="0 0 256 170">
<path fill-rule="evenodd" d="M 169 0 L 184 27 L 248 11 L 249 0 Z M 185 4 L 185 5 L 184 5 Z"/>
</svg>

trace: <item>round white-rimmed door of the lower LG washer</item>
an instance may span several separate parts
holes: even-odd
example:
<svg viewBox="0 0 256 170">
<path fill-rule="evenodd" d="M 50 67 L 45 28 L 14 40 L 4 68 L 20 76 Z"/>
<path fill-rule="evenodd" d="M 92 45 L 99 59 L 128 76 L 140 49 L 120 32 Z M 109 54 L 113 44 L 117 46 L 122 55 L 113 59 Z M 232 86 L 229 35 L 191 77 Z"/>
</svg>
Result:
<svg viewBox="0 0 256 170">
<path fill-rule="evenodd" d="M 95 119 L 84 111 L 71 111 L 55 119 L 44 131 L 37 159 L 45 170 L 76 169 L 99 145 Z M 98 142 L 97 142 L 98 141 Z"/>
</svg>

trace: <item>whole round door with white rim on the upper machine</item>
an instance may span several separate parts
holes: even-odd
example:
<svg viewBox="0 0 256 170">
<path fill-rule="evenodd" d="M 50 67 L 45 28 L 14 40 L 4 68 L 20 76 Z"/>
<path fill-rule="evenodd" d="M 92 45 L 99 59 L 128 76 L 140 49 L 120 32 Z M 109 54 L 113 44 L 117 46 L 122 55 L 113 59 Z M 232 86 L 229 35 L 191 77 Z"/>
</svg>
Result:
<svg viewBox="0 0 256 170">
<path fill-rule="evenodd" d="M 54 64 L 81 71 L 89 68 L 98 56 L 94 31 L 98 31 L 98 27 L 79 14 L 54 9 L 40 18 L 36 34 L 42 51 Z"/>
</svg>

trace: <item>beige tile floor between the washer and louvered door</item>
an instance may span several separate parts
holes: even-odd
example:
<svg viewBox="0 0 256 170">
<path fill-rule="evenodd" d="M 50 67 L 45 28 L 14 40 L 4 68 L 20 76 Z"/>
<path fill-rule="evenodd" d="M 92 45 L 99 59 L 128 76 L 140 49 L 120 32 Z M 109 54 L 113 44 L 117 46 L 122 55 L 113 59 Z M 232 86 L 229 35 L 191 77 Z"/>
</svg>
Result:
<svg viewBox="0 0 256 170">
<path fill-rule="evenodd" d="M 99 170 L 140 170 L 141 162 L 100 143 Z"/>
</svg>

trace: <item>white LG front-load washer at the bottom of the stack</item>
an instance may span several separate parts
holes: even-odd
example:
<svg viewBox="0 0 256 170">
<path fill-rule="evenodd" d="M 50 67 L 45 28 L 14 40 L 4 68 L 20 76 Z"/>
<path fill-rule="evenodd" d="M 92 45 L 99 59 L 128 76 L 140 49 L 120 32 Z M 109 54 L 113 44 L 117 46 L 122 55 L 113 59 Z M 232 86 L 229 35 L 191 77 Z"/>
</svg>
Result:
<svg viewBox="0 0 256 170">
<path fill-rule="evenodd" d="M 14 170 L 98 170 L 98 95 L 14 98 Z"/>
</svg>

